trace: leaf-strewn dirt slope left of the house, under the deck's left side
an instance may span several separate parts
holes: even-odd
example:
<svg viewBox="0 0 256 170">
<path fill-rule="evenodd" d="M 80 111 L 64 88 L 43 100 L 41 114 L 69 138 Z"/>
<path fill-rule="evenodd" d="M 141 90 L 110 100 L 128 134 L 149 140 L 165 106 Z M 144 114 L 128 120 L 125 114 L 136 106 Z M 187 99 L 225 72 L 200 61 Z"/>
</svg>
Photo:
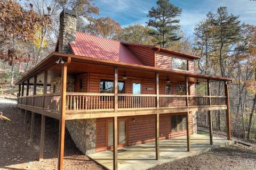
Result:
<svg viewBox="0 0 256 170">
<path fill-rule="evenodd" d="M 59 121 L 46 117 L 44 160 L 38 162 L 41 116 L 35 116 L 34 142 L 30 143 L 30 123 L 24 124 L 15 101 L 0 99 L 0 112 L 11 119 L 0 120 L 0 169 L 57 169 Z M 103 168 L 83 155 L 66 133 L 64 169 Z"/>
</svg>

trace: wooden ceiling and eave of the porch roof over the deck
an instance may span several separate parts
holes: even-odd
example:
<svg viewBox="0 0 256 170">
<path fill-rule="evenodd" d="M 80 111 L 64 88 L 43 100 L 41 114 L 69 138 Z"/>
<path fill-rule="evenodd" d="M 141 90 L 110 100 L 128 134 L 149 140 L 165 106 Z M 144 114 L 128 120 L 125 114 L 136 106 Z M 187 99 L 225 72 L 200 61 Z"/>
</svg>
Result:
<svg viewBox="0 0 256 170">
<path fill-rule="evenodd" d="M 196 82 L 197 80 L 199 82 L 205 82 L 206 79 L 217 80 L 217 81 L 232 81 L 232 79 L 228 79 L 228 78 L 212 77 L 209 75 L 191 73 L 187 71 L 166 70 L 166 69 L 161 69 L 161 68 L 151 67 L 151 66 L 99 60 L 99 59 L 89 58 L 84 56 L 76 56 L 76 55 L 54 52 L 49 56 L 47 56 L 42 62 L 37 64 L 33 69 L 28 71 L 19 80 L 15 81 L 15 84 L 21 84 L 22 82 L 26 83 L 27 79 L 30 79 L 32 81 L 35 75 L 37 75 L 38 78 L 41 79 L 43 78 L 41 74 L 45 70 L 49 70 L 49 80 L 47 81 L 47 83 L 50 83 L 52 78 L 61 74 L 61 64 L 55 63 L 55 61 L 57 61 L 59 57 L 62 57 L 63 60 L 67 60 L 67 57 L 71 57 L 71 63 L 68 65 L 68 74 L 78 74 L 78 73 L 86 72 L 88 70 L 92 70 L 95 72 L 101 71 L 104 73 L 112 74 L 113 67 L 118 67 L 120 71 L 122 71 L 122 69 L 133 70 L 133 72 L 136 71 L 135 74 L 137 76 L 139 71 L 141 71 L 143 72 L 143 76 L 145 77 L 149 75 L 147 74 L 149 72 L 150 72 L 149 77 L 152 77 L 152 75 L 154 75 L 155 72 L 158 72 L 160 74 L 176 75 L 176 77 L 173 77 L 173 79 L 178 78 L 177 76 L 180 76 L 180 78 L 188 76 L 189 82 Z M 94 66 L 90 67 L 92 65 Z M 100 67 L 103 69 L 99 70 L 99 66 L 95 66 L 95 65 L 100 65 Z"/>
</svg>

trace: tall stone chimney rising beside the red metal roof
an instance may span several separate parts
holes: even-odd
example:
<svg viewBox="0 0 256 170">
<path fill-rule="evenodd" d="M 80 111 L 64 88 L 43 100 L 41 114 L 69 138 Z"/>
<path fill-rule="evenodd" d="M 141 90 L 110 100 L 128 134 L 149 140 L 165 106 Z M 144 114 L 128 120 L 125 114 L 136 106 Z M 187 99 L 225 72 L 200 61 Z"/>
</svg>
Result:
<svg viewBox="0 0 256 170">
<path fill-rule="evenodd" d="M 72 54 L 69 43 L 76 40 L 76 12 L 65 8 L 60 13 L 59 46 L 60 53 Z"/>
</svg>

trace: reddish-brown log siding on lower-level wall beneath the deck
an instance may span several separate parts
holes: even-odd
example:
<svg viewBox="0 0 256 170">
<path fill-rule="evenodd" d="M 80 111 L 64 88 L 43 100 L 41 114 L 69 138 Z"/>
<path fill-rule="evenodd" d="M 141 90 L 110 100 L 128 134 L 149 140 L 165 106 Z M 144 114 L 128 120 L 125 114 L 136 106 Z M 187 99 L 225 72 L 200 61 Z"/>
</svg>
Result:
<svg viewBox="0 0 256 170">
<path fill-rule="evenodd" d="M 179 113 L 185 114 L 185 113 Z M 171 115 L 164 114 L 159 117 L 159 139 L 175 138 L 186 135 L 187 131 L 171 132 Z M 155 141 L 155 115 L 130 116 L 127 118 L 127 145 L 139 145 L 141 143 Z M 105 151 L 107 139 L 107 120 L 108 118 L 98 118 L 96 123 L 96 152 Z M 189 114 L 190 134 L 193 130 L 193 117 Z"/>
</svg>

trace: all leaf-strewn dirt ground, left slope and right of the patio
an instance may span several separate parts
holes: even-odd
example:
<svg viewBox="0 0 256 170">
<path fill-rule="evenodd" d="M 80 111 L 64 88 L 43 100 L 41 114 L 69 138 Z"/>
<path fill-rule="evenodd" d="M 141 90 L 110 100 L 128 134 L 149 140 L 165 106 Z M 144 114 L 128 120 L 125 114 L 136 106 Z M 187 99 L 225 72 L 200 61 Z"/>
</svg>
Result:
<svg viewBox="0 0 256 170">
<path fill-rule="evenodd" d="M 24 115 L 19 112 L 14 100 L 0 99 L 0 111 L 11 122 L 0 120 L 0 169 L 57 169 L 59 122 L 46 117 L 44 161 L 38 162 L 41 116 L 36 114 L 34 142 L 29 142 L 30 124 L 24 124 Z M 207 134 L 207 129 L 199 128 Z M 214 132 L 222 136 L 225 133 Z M 151 169 L 256 169 L 256 147 L 235 144 L 214 149 L 204 154 L 175 160 Z M 65 169 L 103 169 L 83 155 L 65 135 Z"/>
</svg>

